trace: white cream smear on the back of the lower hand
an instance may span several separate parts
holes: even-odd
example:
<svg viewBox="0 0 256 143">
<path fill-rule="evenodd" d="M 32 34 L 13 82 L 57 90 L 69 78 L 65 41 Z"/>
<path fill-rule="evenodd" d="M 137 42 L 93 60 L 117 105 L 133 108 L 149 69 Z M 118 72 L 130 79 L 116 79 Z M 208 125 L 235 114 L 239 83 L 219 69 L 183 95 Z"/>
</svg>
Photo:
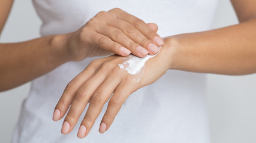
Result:
<svg viewBox="0 0 256 143">
<path fill-rule="evenodd" d="M 162 47 L 162 46 L 161 46 Z M 160 49 L 161 49 L 160 47 Z M 160 51 L 159 51 L 160 52 Z M 127 70 L 129 74 L 135 75 L 135 81 L 139 82 L 140 77 L 144 72 L 144 66 L 149 58 L 153 58 L 159 54 L 159 52 L 155 55 L 147 55 L 144 58 L 137 57 L 135 55 L 128 55 L 125 57 L 125 61 L 122 64 L 118 64 L 121 69 Z"/>
</svg>

